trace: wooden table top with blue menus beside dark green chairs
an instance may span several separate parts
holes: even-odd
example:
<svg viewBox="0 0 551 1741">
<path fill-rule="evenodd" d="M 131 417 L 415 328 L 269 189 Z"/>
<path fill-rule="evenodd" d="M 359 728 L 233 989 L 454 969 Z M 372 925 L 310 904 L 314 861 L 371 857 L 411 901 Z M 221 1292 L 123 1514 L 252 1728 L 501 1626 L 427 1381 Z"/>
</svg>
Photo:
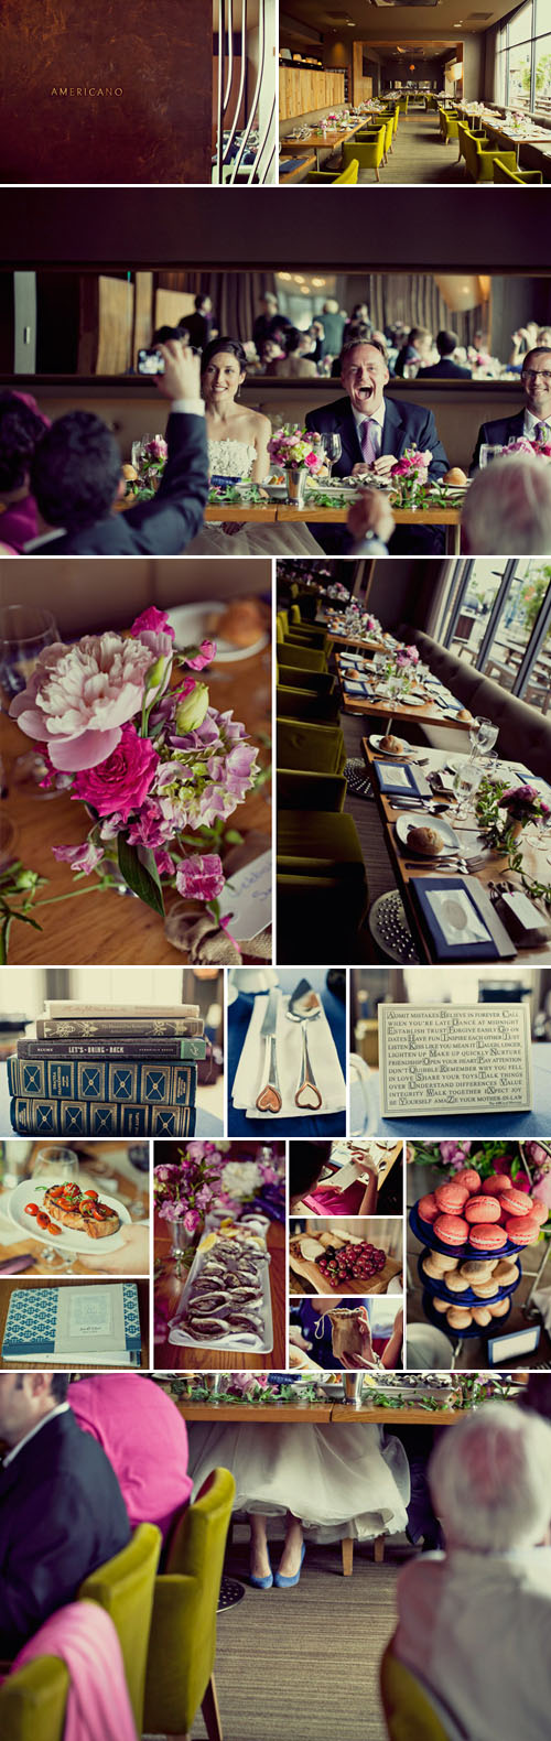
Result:
<svg viewBox="0 0 551 1741">
<path fill-rule="evenodd" d="M 452 724 L 452 721 L 446 721 L 446 724 Z M 410 897 L 410 891 L 408 891 L 408 884 L 412 883 L 413 877 L 417 879 L 417 877 L 445 876 L 446 874 L 446 865 L 443 865 L 439 869 L 438 858 L 434 858 L 432 864 L 422 864 L 420 862 L 417 865 L 415 864 L 415 855 L 408 853 L 406 848 L 401 846 L 401 843 L 398 841 L 398 836 L 396 836 L 394 823 L 398 822 L 399 817 L 405 815 L 405 808 L 392 804 L 392 799 L 387 797 L 384 792 L 380 792 L 380 787 L 378 787 L 378 782 L 377 782 L 377 776 L 375 776 L 375 770 L 373 770 L 373 763 L 378 757 L 377 757 L 377 750 L 373 750 L 371 745 L 368 743 L 368 738 L 361 740 L 361 749 L 363 749 L 364 763 L 366 763 L 368 775 L 370 775 L 370 780 L 371 780 L 371 787 L 373 787 L 373 794 L 375 794 L 375 803 L 377 803 L 377 808 L 380 811 L 382 822 L 385 823 L 385 844 L 387 844 L 387 850 L 389 850 L 392 869 L 396 872 L 396 881 L 398 881 L 401 897 L 403 897 L 405 905 L 406 905 L 408 919 L 410 919 L 410 923 L 412 923 L 412 926 L 415 930 L 417 942 L 422 944 L 425 959 L 427 961 L 434 961 L 434 959 L 438 961 L 438 956 L 432 954 L 431 938 L 429 938 L 429 935 L 424 930 L 422 914 L 418 914 L 417 907 L 412 905 L 412 897 Z M 413 759 L 415 759 L 415 750 L 413 750 Z M 445 761 L 446 761 L 446 756 L 441 750 L 432 750 L 431 756 L 429 756 L 429 766 L 431 768 L 443 766 Z M 420 773 L 427 773 L 427 768 L 425 766 L 420 768 Z M 432 803 L 438 803 L 436 794 L 434 794 Z M 429 808 L 431 808 L 431 801 L 427 799 L 427 810 Z M 452 803 L 448 806 L 448 810 L 443 811 L 443 818 L 448 820 L 452 827 L 453 827 L 453 808 L 455 806 Z M 418 825 L 420 827 L 422 827 L 422 822 L 424 822 L 424 813 L 420 810 L 418 811 Z M 438 827 L 438 818 L 436 818 L 436 827 Z M 467 853 L 469 853 L 469 839 L 474 843 L 476 836 L 474 834 L 473 836 L 466 836 L 466 851 Z M 537 850 L 537 846 L 532 844 L 530 841 L 523 839 L 523 836 L 521 836 L 520 844 L 523 846 L 523 867 L 525 867 L 525 872 L 530 877 L 539 877 L 542 883 L 548 881 L 548 877 L 549 877 L 549 867 L 546 864 L 546 853 L 544 853 L 544 850 Z M 476 844 L 473 844 L 473 851 L 476 851 Z M 460 872 L 457 872 L 457 870 L 450 870 L 450 876 L 459 876 L 459 874 Z M 466 876 L 474 876 L 476 881 L 481 883 L 483 886 L 486 886 L 488 883 L 495 883 L 495 881 L 499 881 L 500 877 L 506 876 L 509 883 L 514 883 L 514 888 L 521 888 L 521 877 L 520 877 L 518 872 L 509 870 L 507 855 L 506 853 L 502 853 L 502 855 L 488 853 L 486 862 L 478 870 L 467 870 Z M 541 959 L 542 956 L 548 958 L 549 954 L 551 954 L 549 942 L 548 944 L 542 942 L 541 945 L 534 945 L 532 944 L 530 949 L 518 949 L 516 951 L 516 959 L 518 961 L 534 961 L 534 958 Z"/>
</svg>

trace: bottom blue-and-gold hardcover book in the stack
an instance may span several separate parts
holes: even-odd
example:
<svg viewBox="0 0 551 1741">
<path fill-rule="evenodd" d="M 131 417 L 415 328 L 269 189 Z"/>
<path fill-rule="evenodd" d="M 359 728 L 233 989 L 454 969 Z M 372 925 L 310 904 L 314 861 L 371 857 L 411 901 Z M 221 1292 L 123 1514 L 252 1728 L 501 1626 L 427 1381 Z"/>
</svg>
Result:
<svg viewBox="0 0 551 1741">
<path fill-rule="evenodd" d="M 127 1106 L 126 1100 L 45 1100 L 16 1095 L 10 1119 L 19 1137 L 192 1137 L 194 1106 Z"/>
</svg>

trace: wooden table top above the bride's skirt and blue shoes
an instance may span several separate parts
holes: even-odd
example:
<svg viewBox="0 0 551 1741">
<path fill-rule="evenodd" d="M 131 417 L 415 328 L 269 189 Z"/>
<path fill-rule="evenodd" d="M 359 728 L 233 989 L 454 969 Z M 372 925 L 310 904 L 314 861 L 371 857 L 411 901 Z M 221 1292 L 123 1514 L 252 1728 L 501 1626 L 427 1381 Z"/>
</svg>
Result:
<svg viewBox="0 0 551 1741">
<path fill-rule="evenodd" d="M 281 1426 L 295 1422 L 296 1426 L 305 1426 L 305 1422 L 314 1422 L 316 1426 L 344 1426 L 345 1422 L 354 1426 L 453 1426 L 460 1421 L 464 1408 L 415 1408 L 413 1405 L 399 1407 L 399 1403 L 389 1408 L 370 1408 L 363 1405 L 354 1408 L 352 1403 L 188 1403 L 183 1398 L 176 1403 L 180 1414 L 185 1421 L 248 1421 L 255 1426 L 274 1426 L 277 1421 Z"/>
</svg>

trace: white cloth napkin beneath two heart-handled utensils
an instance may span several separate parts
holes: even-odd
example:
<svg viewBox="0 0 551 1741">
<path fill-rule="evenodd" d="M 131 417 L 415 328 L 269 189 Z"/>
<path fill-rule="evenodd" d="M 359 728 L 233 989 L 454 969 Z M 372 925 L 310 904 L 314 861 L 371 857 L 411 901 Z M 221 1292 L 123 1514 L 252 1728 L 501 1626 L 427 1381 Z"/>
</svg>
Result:
<svg viewBox="0 0 551 1741">
<path fill-rule="evenodd" d="M 295 1093 L 300 1083 L 302 1072 L 302 1025 L 298 1022 L 289 1022 L 286 1017 L 289 999 L 279 994 L 277 999 L 277 1027 L 276 1027 L 276 1053 L 277 1053 L 277 1076 L 279 1092 L 282 1097 L 281 1112 L 265 1114 L 255 1106 L 256 1095 L 265 1086 L 267 1081 L 267 1043 L 260 1038 L 260 1029 L 267 1012 L 267 998 L 255 998 L 253 1015 L 248 1027 L 248 1036 L 242 1046 L 239 1065 L 235 1071 L 232 1100 L 235 1107 L 242 1107 L 246 1116 L 251 1119 L 265 1119 L 270 1116 L 274 1125 L 288 1118 L 312 1118 L 312 1107 L 295 1106 Z M 317 1118 L 324 1112 L 342 1112 L 347 1104 L 345 1079 L 340 1069 L 335 1039 L 326 1018 L 324 1010 L 316 1022 L 307 1022 L 307 1043 L 310 1065 L 314 1071 L 314 1079 L 323 1095 Z"/>
</svg>

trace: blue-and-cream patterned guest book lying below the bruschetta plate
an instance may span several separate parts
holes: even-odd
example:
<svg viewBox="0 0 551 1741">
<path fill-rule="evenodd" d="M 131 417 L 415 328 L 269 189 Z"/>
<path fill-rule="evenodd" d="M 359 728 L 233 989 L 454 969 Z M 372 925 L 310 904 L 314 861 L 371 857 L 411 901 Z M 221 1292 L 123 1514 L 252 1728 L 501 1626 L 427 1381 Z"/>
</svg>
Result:
<svg viewBox="0 0 551 1741">
<path fill-rule="evenodd" d="M 2 1358 L 52 1365 L 139 1367 L 136 1281 L 14 1288 Z"/>
</svg>

